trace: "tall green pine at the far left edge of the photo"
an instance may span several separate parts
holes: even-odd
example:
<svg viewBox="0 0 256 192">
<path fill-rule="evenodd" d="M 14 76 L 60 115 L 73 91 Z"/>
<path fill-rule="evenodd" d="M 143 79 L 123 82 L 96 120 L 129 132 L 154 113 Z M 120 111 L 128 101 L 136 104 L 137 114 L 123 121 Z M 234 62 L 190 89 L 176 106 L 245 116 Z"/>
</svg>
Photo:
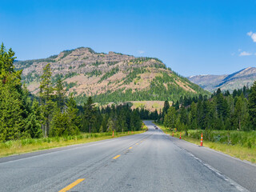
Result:
<svg viewBox="0 0 256 192">
<path fill-rule="evenodd" d="M 26 115 L 22 102 L 22 70 L 14 70 L 14 51 L 0 48 L 0 141 L 22 136 Z M 25 113 L 26 114 L 26 113 Z"/>
</svg>

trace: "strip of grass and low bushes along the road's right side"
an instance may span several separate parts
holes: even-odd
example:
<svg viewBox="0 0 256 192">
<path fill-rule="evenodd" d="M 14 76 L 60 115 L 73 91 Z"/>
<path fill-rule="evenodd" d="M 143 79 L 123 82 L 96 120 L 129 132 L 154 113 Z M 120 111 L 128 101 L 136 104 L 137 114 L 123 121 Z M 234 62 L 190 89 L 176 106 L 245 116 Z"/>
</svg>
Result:
<svg viewBox="0 0 256 192">
<path fill-rule="evenodd" d="M 166 134 L 172 135 L 169 128 L 157 124 Z M 256 162 L 256 133 L 255 131 L 245 132 L 237 130 L 188 130 L 174 132 L 174 137 L 200 145 L 201 134 L 203 135 L 203 146 L 213 150 L 221 151 L 235 158 Z"/>
</svg>

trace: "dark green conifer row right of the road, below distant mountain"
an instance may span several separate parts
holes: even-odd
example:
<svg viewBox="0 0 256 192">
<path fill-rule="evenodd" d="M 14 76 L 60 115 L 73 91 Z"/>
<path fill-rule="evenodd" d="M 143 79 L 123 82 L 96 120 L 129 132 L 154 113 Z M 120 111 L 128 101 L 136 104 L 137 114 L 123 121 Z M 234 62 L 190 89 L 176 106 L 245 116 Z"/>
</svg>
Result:
<svg viewBox="0 0 256 192">
<path fill-rule="evenodd" d="M 256 130 L 256 82 L 232 94 L 218 89 L 210 98 L 200 94 L 172 106 L 165 102 L 158 122 L 178 130 Z"/>
</svg>

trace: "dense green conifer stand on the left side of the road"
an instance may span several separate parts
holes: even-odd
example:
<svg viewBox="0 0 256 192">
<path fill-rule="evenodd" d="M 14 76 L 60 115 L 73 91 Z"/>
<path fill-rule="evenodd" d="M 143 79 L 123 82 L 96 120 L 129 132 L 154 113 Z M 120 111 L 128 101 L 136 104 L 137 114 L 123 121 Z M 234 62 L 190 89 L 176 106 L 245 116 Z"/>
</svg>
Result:
<svg viewBox="0 0 256 192">
<path fill-rule="evenodd" d="M 141 130 L 139 110 L 129 104 L 95 106 L 89 97 L 78 107 L 66 96 L 62 78 L 54 79 L 50 64 L 43 68 L 37 95 L 22 85 L 22 70 L 14 69 L 14 51 L 0 48 L 0 142 L 20 138 L 75 135 L 81 132 Z M 54 83 L 55 82 L 55 83 Z"/>
</svg>

